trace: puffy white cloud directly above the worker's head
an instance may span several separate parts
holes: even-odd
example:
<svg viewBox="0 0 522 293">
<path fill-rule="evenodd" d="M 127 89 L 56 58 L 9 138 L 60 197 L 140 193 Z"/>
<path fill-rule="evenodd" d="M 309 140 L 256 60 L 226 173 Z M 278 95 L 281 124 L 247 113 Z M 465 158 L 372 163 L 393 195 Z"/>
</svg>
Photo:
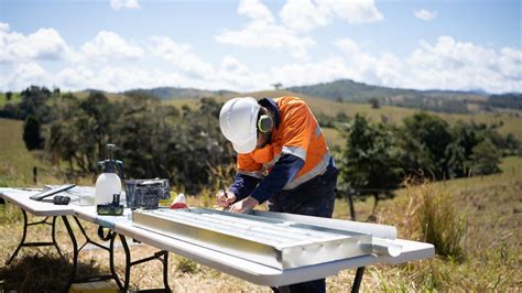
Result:
<svg viewBox="0 0 522 293">
<path fill-rule="evenodd" d="M 261 21 L 250 22 L 240 31 L 226 31 L 215 39 L 221 44 L 242 47 L 287 50 L 297 58 L 307 57 L 307 50 L 316 44 L 309 36 L 300 36 L 284 26 Z"/>
</svg>

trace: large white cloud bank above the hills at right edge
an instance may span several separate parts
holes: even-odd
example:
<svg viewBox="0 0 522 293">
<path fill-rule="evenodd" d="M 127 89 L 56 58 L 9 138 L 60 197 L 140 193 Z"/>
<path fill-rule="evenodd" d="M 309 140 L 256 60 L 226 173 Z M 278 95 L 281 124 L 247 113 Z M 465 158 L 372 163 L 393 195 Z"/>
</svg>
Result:
<svg viewBox="0 0 522 293">
<path fill-rule="evenodd" d="M 389 87 L 417 89 L 522 91 L 522 51 L 497 52 L 450 36 L 435 44 L 422 41 L 404 61 L 366 53 L 352 40 L 339 40 L 348 78 Z"/>
</svg>

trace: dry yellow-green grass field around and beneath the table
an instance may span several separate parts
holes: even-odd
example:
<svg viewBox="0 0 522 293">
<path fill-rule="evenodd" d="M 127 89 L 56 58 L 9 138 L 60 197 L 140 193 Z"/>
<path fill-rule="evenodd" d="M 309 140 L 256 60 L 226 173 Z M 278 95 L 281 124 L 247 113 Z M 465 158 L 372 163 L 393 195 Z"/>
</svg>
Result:
<svg viewBox="0 0 522 293">
<path fill-rule="evenodd" d="M 431 184 L 441 193 L 452 193 L 455 205 L 467 218 L 465 239 L 461 242 L 466 258 L 458 262 L 436 257 L 431 260 L 413 261 L 402 265 L 372 265 L 367 268 L 362 292 L 368 291 L 508 291 L 514 292 L 522 285 L 522 251 L 521 251 L 521 214 L 522 213 L 522 159 L 509 158 L 503 160 L 504 173 L 448 181 Z M 400 238 L 422 240 L 418 231 L 412 230 L 416 221 L 416 204 L 423 187 L 407 187 L 398 193 L 393 199 L 379 204 L 377 220 L 381 224 L 398 227 Z M 202 197 L 203 196 L 203 197 Z M 208 196 L 208 195 L 206 195 Z M 191 206 L 202 206 L 206 200 L 200 197 L 188 197 Z M 356 202 L 359 220 L 365 220 L 370 214 L 371 200 Z M 33 220 L 34 217 L 31 217 Z M 336 203 L 335 218 L 349 218 L 345 200 Z M 15 248 L 21 237 L 20 211 L 11 205 L 0 207 L 0 232 L 11 237 L 0 238 L 0 261 L 6 260 Z M 96 227 L 85 224 L 89 235 L 95 235 Z M 46 228 L 36 229 L 36 235 L 44 235 Z M 46 230 L 48 232 L 48 230 Z M 79 232 L 79 231 L 78 231 Z M 42 237 L 34 237 L 42 240 Z M 58 242 L 65 251 L 72 246 L 63 225 L 58 225 Z M 152 254 L 155 249 L 137 245 L 132 248 L 133 258 Z M 52 249 L 42 249 L 47 257 L 35 257 L 35 250 L 22 249 L 21 256 L 10 267 L 0 269 L 0 278 L 11 280 L 14 272 L 31 265 L 64 265 L 63 261 Z M 87 250 L 80 254 L 84 272 L 107 272 L 108 264 L 105 251 Z M 122 275 L 123 254 L 120 249 L 116 252 L 118 273 Z M 70 264 L 67 264 L 70 265 Z M 65 267 L 70 269 L 70 267 Z M 62 269 L 64 271 L 64 269 Z M 65 270 L 67 271 L 67 270 Z M 338 275 L 327 279 L 329 292 L 346 292 L 354 280 L 354 270 L 341 271 Z M 40 275 L 33 268 L 28 278 L 48 278 Z M 64 275 L 55 275 L 63 280 Z M 62 278 L 62 279 L 61 279 Z M 270 289 L 244 282 L 240 279 L 221 273 L 187 259 L 171 254 L 168 279 L 175 292 L 271 292 Z M 161 267 L 159 262 L 149 262 L 134 267 L 131 273 L 133 289 L 161 286 Z M 42 281 L 42 283 L 45 283 Z M 56 283 L 56 282 L 55 282 Z M 58 282 L 59 283 L 59 282 Z M 1 289 L 0 282 L 0 289 Z M 6 282 L 6 284 L 11 284 Z M 15 284 L 14 287 L 23 284 Z M 26 284 L 25 284 L 26 285 Z M 7 287 L 6 287 L 7 289 Z M 26 286 L 25 286 L 26 289 Z M 36 286 L 36 289 L 39 289 Z M 42 287 L 40 287 L 42 289 Z"/>
</svg>

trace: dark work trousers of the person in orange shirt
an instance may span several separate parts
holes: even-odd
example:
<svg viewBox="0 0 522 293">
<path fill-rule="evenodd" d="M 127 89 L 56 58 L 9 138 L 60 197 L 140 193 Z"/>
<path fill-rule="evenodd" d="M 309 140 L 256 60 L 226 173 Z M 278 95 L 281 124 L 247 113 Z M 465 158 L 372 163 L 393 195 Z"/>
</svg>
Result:
<svg viewBox="0 0 522 293">
<path fill-rule="evenodd" d="M 300 186 L 275 194 L 269 202 L 270 211 L 331 218 L 335 205 L 337 169 L 331 164 L 323 175 Z M 290 285 L 291 292 L 326 292 L 325 279 Z"/>
</svg>

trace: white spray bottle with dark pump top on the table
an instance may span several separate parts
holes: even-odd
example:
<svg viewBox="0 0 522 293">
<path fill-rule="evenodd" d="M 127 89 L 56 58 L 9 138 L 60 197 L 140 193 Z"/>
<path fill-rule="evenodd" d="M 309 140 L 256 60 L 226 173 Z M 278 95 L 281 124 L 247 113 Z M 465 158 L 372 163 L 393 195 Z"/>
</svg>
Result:
<svg viewBox="0 0 522 293">
<path fill-rule="evenodd" d="M 123 162 L 115 160 L 112 152 L 115 144 L 107 144 L 109 159 L 98 162 L 104 173 L 96 181 L 95 205 L 110 204 L 113 196 L 121 193 L 121 178 L 123 177 Z M 117 172 L 121 175 L 118 176 Z"/>
</svg>

